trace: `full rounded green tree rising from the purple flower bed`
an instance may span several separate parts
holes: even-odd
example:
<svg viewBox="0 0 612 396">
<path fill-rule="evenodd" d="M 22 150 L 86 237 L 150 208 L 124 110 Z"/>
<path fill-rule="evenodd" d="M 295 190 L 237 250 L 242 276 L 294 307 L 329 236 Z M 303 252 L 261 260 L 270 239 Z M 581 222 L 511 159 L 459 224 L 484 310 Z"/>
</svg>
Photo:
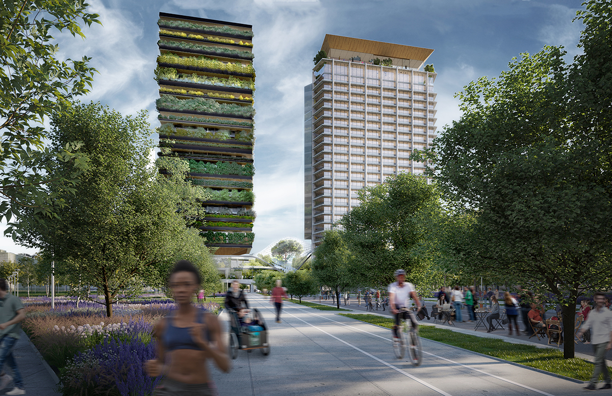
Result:
<svg viewBox="0 0 612 396">
<path fill-rule="evenodd" d="M 53 145 L 83 141 L 91 166 L 76 194 L 57 192 L 67 203 L 58 211 L 61 221 L 49 224 L 31 213 L 29 232 L 20 237 L 55 260 L 56 273 L 67 276 L 84 299 L 89 286 L 97 287 L 109 317 L 114 302 L 140 294 L 145 283 L 165 284 L 177 258 L 208 268 L 205 279 L 216 274 L 198 230 L 185 224 L 203 214 L 203 190 L 185 182 L 184 161 L 160 160 L 166 175 L 149 164 L 146 119 L 146 112 L 122 117 L 97 103 L 55 114 Z M 51 169 L 61 172 L 63 166 L 56 162 Z"/>
</svg>

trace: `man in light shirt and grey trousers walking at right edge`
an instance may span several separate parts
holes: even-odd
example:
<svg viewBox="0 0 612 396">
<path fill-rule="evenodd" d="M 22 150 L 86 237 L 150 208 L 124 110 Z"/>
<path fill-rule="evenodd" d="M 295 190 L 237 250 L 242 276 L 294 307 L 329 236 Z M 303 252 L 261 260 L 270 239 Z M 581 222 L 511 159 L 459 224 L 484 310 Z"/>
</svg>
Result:
<svg viewBox="0 0 612 396">
<path fill-rule="evenodd" d="M 588 386 L 584 389 L 592 391 L 595 389 L 595 384 L 599 381 L 599 375 L 603 372 L 603 380 L 606 382 L 604 386 L 599 389 L 610 389 L 612 388 L 612 380 L 610 380 L 610 373 L 608 367 L 606 367 L 606 351 L 612 349 L 612 311 L 605 309 L 606 296 L 603 293 L 597 292 L 594 295 L 595 309 L 589 313 L 589 318 L 584 322 L 583 327 L 578 331 L 578 337 L 587 329 L 591 330 L 591 340 L 593 345 L 593 352 L 595 355 L 595 367 L 593 368 L 593 375 Z"/>
</svg>

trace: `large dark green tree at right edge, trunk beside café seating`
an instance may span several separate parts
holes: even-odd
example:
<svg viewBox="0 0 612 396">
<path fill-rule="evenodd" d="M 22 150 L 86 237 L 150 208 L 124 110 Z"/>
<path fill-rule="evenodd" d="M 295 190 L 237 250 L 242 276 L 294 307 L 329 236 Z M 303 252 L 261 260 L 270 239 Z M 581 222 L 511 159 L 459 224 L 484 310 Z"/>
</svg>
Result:
<svg viewBox="0 0 612 396">
<path fill-rule="evenodd" d="M 612 2 L 589 1 L 578 16 L 583 55 L 566 65 L 545 47 L 471 82 L 458 94 L 463 116 L 427 154 L 449 202 L 476 216 L 471 265 L 551 293 L 566 340 L 578 296 L 612 286 Z"/>
</svg>

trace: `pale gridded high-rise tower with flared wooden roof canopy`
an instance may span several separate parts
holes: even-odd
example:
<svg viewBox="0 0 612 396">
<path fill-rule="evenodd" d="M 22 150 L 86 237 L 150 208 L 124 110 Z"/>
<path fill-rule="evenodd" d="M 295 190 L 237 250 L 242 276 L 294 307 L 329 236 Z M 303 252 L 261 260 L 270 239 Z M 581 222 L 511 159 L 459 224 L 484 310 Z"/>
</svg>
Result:
<svg viewBox="0 0 612 396">
<path fill-rule="evenodd" d="M 398 172 L 436 137 L 436 73 L 420 68 L 433 50 L 327 34 L 327 58 L 304 90 L 304 238 L 318 244 L 357 191 Z"/>
</svg>

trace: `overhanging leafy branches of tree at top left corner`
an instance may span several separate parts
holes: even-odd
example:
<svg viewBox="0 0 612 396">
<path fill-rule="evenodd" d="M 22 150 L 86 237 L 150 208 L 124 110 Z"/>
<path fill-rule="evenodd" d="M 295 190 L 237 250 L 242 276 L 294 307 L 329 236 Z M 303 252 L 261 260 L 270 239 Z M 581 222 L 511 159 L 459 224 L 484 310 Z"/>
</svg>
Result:
<svg viewBox="0 0 612 396">
<path fill-rule="evenodd" d="M 60 61 L 53 31 L 84 38 L 78 20 L 90 26 L 98 15 L 86 12 L 82 0 L 6 0 L 0 5 L 0 219 L 10 221 L 31 208 L 48 218 L 65 205 L 50 194 L 50 186 L 70 186 L 87 168 L 76 141 L 53 152 L 43 146 L 45 117 L 62 112 L 70 100 L 89 92 L 94 68 L 89 58 Z M 53 174 L 48 157 L 69 164 L 68 172 Z M 55 189 L 53 190 L 55 191 Z M 9 223 L 6 233 L 19 233 Z"/>
</svg>

